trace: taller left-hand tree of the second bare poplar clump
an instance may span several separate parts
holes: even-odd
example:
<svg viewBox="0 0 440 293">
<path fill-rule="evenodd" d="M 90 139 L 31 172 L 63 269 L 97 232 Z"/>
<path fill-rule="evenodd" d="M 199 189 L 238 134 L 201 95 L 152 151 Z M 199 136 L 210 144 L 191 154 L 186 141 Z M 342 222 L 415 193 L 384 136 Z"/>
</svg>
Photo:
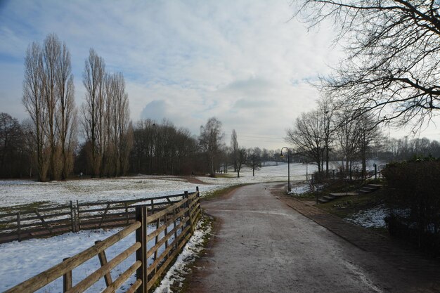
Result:
<svg viewBox="0 0 440 293">
<path fill-rule="evenodd" d="M 105 114 L 105 63 L 93 49 L 90 49 L 83 72 L 86 100 L 82 104 L 84 136 L 90 143 L 89 164 L 92 176 L 101 175 L 104 143 Z"/>
</svg>

